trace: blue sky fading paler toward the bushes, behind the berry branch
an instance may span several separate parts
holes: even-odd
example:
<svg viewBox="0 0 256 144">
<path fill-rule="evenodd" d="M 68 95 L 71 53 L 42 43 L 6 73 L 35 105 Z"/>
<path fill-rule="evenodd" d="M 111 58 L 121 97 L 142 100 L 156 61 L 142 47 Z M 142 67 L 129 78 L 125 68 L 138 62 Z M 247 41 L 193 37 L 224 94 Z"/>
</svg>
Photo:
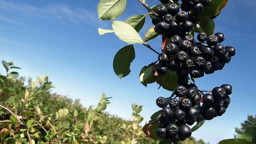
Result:
<svg viewBox="0 0 256 144">
<path fill-rule="evenodd" d="M 147 0 L 149 6 L 158 0 Z M 136 59 L 131 73 L 120 80 L 112 70 L 114 54 L 124 42 L 114 34 L 98 35 L 97 28 L 111 28 L 111 22 L 98 20 L 98 0 L 0 0 L 0 60 L 14 61 L 21 76 L 46 74 L 56 86 L 54 92 L 81 99 L 84 106 L 96 105 L 102 94 L 113 97 L 107 111 L 122 118 L 131 118 L 131 104 L 143 106 L 141 115 L 148 121 L 159 110 L 159 96 L 170 92 L 158 90 L 157 84 L 144 87 L 138 75 L 144 65 L 156 61 L 157 55 L 135 45 Z M 196 80 L 201 90 L 211 90 L 221 84 L 232 84 L 233 94 L 227 112 L 204 126 L 192 136 L 216 144 L 232 138 L 234 128 L 255 115 L 255 39 L 256 1 L 229 0 L 215 19 L 215 32 L 223 32 L 224 45 L 236 48 L 236 56 L 221 71 Z M 128 0 L 127 9 L 118 20 L 146 14 L 137 0 Z M 140 35 L 152 26 L 147 18 Z M 160 51 L 161 38 L 149 42 Z M 3 68 L 0 68 L 3 72 Z M 145 122 L 144 121 L 144 122 Z"/>
</svg>

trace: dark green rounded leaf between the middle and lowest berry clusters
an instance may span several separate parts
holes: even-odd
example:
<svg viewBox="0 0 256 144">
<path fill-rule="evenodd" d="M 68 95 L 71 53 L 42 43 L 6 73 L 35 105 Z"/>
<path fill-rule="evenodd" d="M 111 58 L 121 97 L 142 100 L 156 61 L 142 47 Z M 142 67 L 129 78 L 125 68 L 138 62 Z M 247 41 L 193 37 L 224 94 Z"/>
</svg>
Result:
<svg viewBox="0 0 256 144">
<path fill-rule="evenodd" d="M 156 82 L 164 89 L 173 91 L 174 88 L 178 85 L 178 76 L 176 72 L 169 71 Z"/>
</svg>

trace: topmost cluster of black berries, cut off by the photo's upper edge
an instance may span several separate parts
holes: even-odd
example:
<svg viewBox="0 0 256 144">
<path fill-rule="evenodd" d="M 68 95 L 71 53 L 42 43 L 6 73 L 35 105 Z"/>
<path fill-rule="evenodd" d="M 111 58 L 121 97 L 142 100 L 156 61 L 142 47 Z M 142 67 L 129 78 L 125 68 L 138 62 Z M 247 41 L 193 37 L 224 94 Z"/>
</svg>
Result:
<svg viewBox="0 0 256 144">
<path fill-rule="evenodd" d="M 174 0 L 178 1 L 178 0 Z M 160 0 L 162 4 L 168 4 L 170 0 Z M 209 4 L 210 0 L 182 0 L 181 10 L 177 4 L 159 6 L 157 16 L 152 18 L 155 25 L 155 32 L 164 34 L 167 38 L 173 35 L 184 37 L 187 32 L 191 32 L 194 24 L 198 22 L 198 14 L 204 11 L 204 6 Z M 188 14 L 188 11 L 192 11 Z"/>
</svg>

